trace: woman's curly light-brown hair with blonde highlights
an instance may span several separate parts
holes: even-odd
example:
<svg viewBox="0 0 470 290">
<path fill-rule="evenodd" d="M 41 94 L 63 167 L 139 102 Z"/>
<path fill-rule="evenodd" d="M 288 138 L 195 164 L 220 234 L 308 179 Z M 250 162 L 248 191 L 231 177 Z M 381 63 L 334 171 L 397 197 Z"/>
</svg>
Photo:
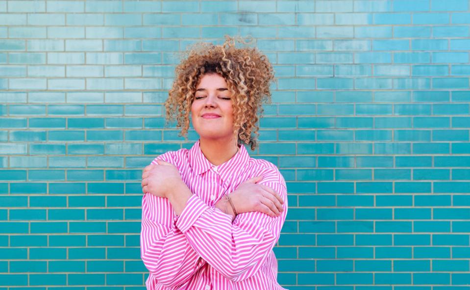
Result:
<svg viewBox="0 0 470 290">
<path fill-rule="evenodd" d="M 235 48 L 235 40 L 247 44 L 240 37 L 225 35 L 222 45 L 196 43 L 186 52 L 175 68 L 173 87 L 165 102 L 167 122 L 176 120 L 181 128 L 180 136 L 187 138 L 189 114 L 199 79 L 204 74 L 218 74 L 227 82 L 232 93 L 234 117 L 233 133 L 238 144 L 248 144 L 251 150 L 257 146 L 257 125 L 263 114 L 262 102 L 271 101 L 270 83 L 274 70 L 266 55 L 257 48 Z"/>
</svg>

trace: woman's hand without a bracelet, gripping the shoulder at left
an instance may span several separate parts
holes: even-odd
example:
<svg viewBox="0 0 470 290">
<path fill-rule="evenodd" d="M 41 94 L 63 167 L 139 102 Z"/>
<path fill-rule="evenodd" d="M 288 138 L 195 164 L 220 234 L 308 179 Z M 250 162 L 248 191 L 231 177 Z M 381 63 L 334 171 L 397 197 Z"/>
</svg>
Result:
<svg viewBox="0 0 470 290">
<path fill-rule="evenodd" d="M 158 164 L 151 164 L 142 173 L 142 192 L 168 198 L 175 185 L 182 183 L 178 169 L 172 163 L 157 159 Z"/>
</svg>

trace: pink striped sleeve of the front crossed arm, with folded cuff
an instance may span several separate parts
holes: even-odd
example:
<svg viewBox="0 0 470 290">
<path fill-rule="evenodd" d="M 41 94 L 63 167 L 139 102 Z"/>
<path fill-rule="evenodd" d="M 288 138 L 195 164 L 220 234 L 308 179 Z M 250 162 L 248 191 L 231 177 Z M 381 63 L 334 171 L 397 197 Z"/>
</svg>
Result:
<svg viewBox="0 0 470 290">
<path fill-rule="evenodd" d="M 271 171 L 263 175 L 260 184 L 270 186 L 284 200 L 284 211 L 279 216 L 245 212 L 238 214 L 232 223 L 229 215 L 193 195 L 176 220 L 176 227 L 196 252 L 231 281 L 253 276 L 279 239 L 287 215 L 287 189 L 277 168 Z"/>
</svg>

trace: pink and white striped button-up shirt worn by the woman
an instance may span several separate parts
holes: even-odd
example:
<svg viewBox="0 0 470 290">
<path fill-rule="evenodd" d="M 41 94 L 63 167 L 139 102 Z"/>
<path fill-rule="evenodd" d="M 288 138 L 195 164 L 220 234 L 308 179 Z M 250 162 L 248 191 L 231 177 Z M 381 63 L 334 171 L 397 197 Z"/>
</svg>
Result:
<svg viewBox="0 0 470 290">
<path fill-rule="evenodd" d="M 225 163 L 214 166 L 197 141 L 191 149 L 158 158 L 175 165 L 193 192 L 178 216 L 166 198 L 142 198 L 141 258 L 150 271 L 148 290 L 285 290 L 277 283 L 272 247 L 287 214 L 287 191 L 277 167 L 250 158 L 245 146 Z M 156 164 L 156 159 L 152 161 Z M 284 200 L 284 211 L 271 217 L 258 211 L 230 215 L 215 208 L 244 181 L 263 176 Z"/>
</svg>

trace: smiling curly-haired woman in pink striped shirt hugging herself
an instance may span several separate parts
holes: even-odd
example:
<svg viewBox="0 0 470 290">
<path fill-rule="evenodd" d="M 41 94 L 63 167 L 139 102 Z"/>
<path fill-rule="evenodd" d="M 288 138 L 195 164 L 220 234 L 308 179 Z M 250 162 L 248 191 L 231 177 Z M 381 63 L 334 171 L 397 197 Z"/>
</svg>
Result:
<svg viewBox="0 0 470 290">
<path fill-rule="evenodd" d="M 176 67 L 167 118 L 200 138 L 144 169 L 141 257 L 149 290 L 282 290 L 272 247 L 287 214 L 277 167 L 248 156 L 272 65 L 255 48 L 198 44 Z"/>
</svg>

